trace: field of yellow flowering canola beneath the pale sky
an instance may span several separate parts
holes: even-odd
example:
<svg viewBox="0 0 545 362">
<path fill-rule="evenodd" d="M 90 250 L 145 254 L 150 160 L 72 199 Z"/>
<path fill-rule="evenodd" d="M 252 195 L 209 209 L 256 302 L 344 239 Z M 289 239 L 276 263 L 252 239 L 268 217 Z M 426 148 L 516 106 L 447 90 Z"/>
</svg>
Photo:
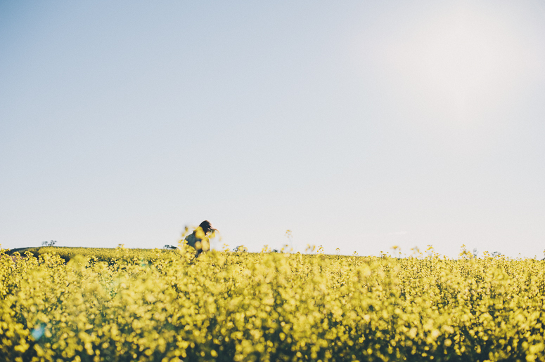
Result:
<svg viewBox="0 0 545 362">
<path fill-rule="evenodd" d="M 545 262 L 0 252 L 0 361 L 545 361 Z"/>
</svg>

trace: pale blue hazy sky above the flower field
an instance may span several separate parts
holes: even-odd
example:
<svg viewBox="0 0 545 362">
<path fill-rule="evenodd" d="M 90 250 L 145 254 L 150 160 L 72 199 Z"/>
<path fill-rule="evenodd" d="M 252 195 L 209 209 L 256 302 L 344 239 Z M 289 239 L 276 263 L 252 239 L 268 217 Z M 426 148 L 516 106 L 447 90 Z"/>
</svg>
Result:
<svg viewBox="0 0 545 362">
<path fill-rule="evenodd" d="M 0 1 L 0 244 L 545 250 L 542 1 Z M 291 237 L 286 235 L 290 230 Z"/>
</svg>

